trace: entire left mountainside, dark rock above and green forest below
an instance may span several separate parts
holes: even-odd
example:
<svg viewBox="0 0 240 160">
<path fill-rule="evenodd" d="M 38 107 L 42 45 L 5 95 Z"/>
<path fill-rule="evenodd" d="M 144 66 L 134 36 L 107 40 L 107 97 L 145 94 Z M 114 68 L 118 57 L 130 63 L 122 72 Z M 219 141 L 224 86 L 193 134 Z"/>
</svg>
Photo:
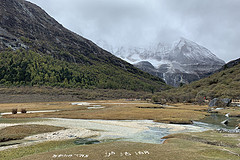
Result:
<svg viewBox="0 0 240 160">
<path fill-rule="evenodd" d="M 0 3 L 0 82 L 81 88 L 162 90 L 157 77 L 67 30 L 24 0 Z"/>
</svg>

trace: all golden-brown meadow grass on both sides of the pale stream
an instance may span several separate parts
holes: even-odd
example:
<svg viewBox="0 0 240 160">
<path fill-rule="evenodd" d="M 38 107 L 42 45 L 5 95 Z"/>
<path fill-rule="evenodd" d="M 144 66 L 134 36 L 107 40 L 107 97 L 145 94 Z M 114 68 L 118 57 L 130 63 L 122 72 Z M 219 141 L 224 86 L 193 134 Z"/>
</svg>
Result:
<svg viewBox="0 0 240 160">
<path fill-rule="evenodd" d="M 159 105 L 147 101 L 95 100 L 85 101 L 90 106 L 72 105 L 71 102 L 34 102 L 0 104 L 0 112 L 11 112 L 13 108 L 27 111 L 60 110 L 51 113 L 27 113 L 3 115 L 2 119 L 28 120 L 29 118 L 73 118 L 105 120 L 154 120 L 163 123 L 191 124 L 207 113 L 208 106 L 193 104 Z M 91 106 L 104 107 L 88 109 Z M 234 110 L 235 109 L 235 110 Z M 237 108 L 227 108 L 226 112 L 238 113 Z M 224 114 L 225 111 L 220 111 Z M 30 120 L 30 119 L 29 119 Z M 42 128 L 43 127 L 43 128 Z M 48 130 L 46 130 L 46 129 Z M 52 126 L 13 126 L 2 129 L 1 136 L 21 139 L 25 136 L 59 130 Z M 21 132 L 22 134 L 17 134 Z M 0 151 L 4 160 L 43 160 L 43 159 L 91 159 L 91 160 L 237 160 L 240 155 L 240 135 L 206 131 L 200 133 L 181 133 L 164 137 L 164 144 L 136 142 L 102 142 L 92 145 L 76 145 L 74 139 L 47 141 Z"/>
</svg>

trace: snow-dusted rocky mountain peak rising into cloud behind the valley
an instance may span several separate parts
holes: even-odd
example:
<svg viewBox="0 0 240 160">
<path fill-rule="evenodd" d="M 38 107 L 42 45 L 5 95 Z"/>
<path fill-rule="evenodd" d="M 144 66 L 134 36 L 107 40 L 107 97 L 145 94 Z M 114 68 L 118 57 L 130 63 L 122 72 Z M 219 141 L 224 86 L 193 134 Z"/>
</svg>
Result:
<svg viewBox="0 0 240 160">
<path fill-rule="evenodd" d="M 173 86 L 199 80 L 225 64 L 207 48 L 185 38 L 172 45 L 158 43 L 148 48 L 103 48 Z"/>
</svg>

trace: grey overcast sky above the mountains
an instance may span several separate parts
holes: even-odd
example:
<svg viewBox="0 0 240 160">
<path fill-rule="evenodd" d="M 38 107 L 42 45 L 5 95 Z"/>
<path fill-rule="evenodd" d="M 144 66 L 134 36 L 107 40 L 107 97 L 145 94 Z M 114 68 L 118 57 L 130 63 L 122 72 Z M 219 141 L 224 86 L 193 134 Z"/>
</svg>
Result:
<svg viewBox="0 0 240 160">
<path fill-rule="evenodd" d="M 240 57 L 240 0 L 29 0 L 66 28 L 114 47 L 180 37 L 226 62 Z"/>
</svg>

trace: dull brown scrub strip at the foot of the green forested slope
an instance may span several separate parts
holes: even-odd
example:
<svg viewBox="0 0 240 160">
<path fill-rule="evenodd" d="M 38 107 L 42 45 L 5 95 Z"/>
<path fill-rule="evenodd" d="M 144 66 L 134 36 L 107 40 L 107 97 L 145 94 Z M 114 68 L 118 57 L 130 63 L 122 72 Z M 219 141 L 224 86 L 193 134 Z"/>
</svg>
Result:
<svg viewBox="0 0 240 160">
<path fill-rule="evenodd" d="M 0 87 L 1 103 L 63 102 L 79 100 L 111 100 L 123 98 L 149 99 L 152 93 L 131 90 L 80 89 L 56 87 Z"/>
</svg>

